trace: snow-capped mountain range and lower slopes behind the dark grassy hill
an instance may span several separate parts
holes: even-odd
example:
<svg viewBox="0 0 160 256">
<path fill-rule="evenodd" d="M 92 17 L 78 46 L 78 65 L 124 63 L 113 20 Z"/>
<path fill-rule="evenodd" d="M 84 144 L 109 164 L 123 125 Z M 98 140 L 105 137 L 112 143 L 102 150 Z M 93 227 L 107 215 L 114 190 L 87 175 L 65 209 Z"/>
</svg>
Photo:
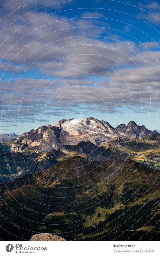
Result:
<svg viewBox="0 0 160 256">
<path fill-rule="evenodd" d="M 158 132 L 133 121 L 113 128 L 92 117 L 61 120 L 55 126 L 41 126 L 17 139 L 0 141 L 0 183 L 44 170 L 74 155 L 96 161 L 130 158 L 160 169 L 159 146 Z M 3 152 L 10 165 L 10 176 Z"/>
</svg>

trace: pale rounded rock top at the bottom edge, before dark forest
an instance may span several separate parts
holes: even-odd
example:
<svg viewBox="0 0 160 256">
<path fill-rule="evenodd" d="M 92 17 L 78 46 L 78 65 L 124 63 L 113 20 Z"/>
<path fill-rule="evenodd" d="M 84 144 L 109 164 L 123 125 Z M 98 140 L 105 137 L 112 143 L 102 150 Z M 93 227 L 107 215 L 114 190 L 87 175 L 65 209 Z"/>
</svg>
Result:
<svg viewBox="0 0 160 256">
<path fill-rule="evenodd" d="M 30 241 L 67 241 L 59 235 L 52 235 L 49 233 L 33 235 Z"/>
</svg>

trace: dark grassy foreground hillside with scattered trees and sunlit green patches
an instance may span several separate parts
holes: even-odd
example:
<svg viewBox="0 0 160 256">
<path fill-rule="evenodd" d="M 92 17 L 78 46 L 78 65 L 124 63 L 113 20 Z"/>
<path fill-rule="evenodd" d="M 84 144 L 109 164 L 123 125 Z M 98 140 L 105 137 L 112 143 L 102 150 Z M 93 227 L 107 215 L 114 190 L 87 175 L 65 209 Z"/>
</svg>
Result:
<svg viewBox="0 0 160 256">
<path fill-rule="evenodd" d="M 3 239 L 49 232 L 67 240 L 157 240 L 159 182 L 158 171 L 132 160 L 71 157 L 0 185 L 0 211 L 20 226 L 1 217 L 11 232 Z"/>
</svg>

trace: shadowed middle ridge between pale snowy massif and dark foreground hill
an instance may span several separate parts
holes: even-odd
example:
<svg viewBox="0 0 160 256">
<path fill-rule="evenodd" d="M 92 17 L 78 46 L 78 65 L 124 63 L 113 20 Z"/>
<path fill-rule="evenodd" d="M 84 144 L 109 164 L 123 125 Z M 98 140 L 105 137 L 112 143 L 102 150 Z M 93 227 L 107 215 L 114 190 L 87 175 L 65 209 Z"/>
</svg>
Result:
<svg viewBox="0 0 160 256">
<path fill-rule="evenodd" d="M 4 150 L 6 144 L 2 145 L 1 149 Z M 9 176 L 4 161 L 4 152 L 0 151 L 0 183 L 17 179 L 30 172 L 44 170 L 74 155 L 83 156 L 89 160 L 105 161 L 110 159 L 110 150 L 101 146 L 97 147 L 89 141 L 82 141 L 77 145 L 62 145 L 49 152 L 32 153 L 31 155 L 28 154 L 28 151 L 23 151 L 23 153 L 5 152 L 5 159 L 10 166 Z"/>
</svg>

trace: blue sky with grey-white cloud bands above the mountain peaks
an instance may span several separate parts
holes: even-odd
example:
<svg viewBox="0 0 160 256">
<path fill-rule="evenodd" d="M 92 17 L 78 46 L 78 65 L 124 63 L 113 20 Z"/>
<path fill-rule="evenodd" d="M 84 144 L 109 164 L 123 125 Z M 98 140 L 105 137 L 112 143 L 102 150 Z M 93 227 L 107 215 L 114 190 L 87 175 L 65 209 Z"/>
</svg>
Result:
<svg viewBox="0 0 160 256">
<path fill-rule="evenodd" d="M 160 130 L 160 1 L 1 0 L 1 133 L 61 119 Z"/>
</svg>

